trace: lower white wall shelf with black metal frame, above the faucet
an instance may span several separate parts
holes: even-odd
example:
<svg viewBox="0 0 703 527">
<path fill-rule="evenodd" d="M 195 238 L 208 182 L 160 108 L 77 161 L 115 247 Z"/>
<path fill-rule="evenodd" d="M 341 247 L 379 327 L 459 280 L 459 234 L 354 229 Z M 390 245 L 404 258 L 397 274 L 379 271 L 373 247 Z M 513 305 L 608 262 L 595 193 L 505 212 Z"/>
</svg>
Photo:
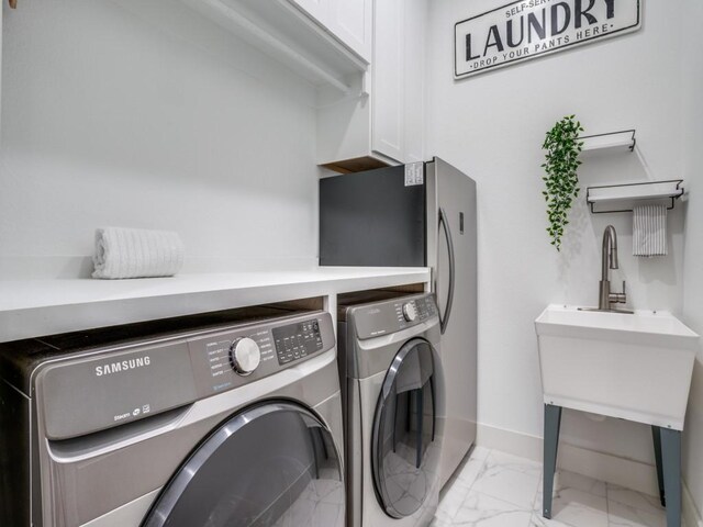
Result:
<svg viewBox="0 0 703 527">
<path fill-rule="evenodd" d="M 671 210 L 676 200 L 681 198 L 684 191 L 682 179 L 609 184 L 588 187 L 585 189 L 585 201 L 593 214 L 632 212 L 637 202 L 652 200 L 671 200 L 668 206 L 668 210 Z"/>
</svg>

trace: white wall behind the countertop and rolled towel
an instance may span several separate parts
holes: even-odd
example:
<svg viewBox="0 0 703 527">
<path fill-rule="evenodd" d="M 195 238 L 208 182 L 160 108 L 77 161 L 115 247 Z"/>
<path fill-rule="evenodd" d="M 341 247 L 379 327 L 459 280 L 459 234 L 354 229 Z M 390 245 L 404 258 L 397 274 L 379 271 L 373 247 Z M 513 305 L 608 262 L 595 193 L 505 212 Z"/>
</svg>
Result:
<svg viewBox="0 0 703 527">
<path fill-rule="evenodd" d="M 2 3 L 0 269 L 70 276 L 103 225 L 315 257 L 311 86 L 175 0 Z"/>
</svg>

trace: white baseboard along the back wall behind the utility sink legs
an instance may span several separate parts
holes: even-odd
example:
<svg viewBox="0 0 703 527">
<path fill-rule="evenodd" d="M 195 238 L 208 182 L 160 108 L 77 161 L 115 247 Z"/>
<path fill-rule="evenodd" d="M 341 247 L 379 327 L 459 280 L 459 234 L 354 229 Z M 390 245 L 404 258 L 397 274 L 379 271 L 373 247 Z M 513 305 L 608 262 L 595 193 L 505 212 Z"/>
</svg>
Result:
<svg viewBox="0 0 703 527">
<path fill-rule="evenodd" d="M 476 442 L 487 448 L 494 448 L 542 462 L 543 440 L 540 437 L 479 424 Z M 557 464 L 560 469 L 652 496 L 659 493 L 657 469 L 654 464 L 588 450 L 567 442 L 559 444 Z M 695 524 L 693 525 L 695 526 Z"/>
</svg>

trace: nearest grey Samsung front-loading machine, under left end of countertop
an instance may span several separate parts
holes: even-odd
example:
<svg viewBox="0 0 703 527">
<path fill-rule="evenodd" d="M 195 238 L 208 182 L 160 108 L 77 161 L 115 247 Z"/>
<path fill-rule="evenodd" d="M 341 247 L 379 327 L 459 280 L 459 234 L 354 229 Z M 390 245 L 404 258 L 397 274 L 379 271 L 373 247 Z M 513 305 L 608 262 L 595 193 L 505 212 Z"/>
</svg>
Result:
<svg viewBox="0 0 703 527">
<path fill-rule="evenodd" d="M 0 525 L 343 527 L 332 318 L 265 311 L 0 345 Z"/>
</svg>

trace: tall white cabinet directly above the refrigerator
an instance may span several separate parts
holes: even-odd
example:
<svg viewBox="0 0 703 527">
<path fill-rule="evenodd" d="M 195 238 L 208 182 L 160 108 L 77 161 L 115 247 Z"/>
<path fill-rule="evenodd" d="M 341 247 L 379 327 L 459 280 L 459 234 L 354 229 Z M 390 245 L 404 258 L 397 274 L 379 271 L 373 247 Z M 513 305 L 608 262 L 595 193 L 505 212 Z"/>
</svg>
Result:
<svg viewBox="0 0 703 527">
<path fill-rule="evenodd" d="M 317 160 L 337 171 L 424 160 L 427 0 L 376 0 L 361 96 L 321 97 Z M 370 82 L 369 82 L 370 79 Z"/>
</svg>

